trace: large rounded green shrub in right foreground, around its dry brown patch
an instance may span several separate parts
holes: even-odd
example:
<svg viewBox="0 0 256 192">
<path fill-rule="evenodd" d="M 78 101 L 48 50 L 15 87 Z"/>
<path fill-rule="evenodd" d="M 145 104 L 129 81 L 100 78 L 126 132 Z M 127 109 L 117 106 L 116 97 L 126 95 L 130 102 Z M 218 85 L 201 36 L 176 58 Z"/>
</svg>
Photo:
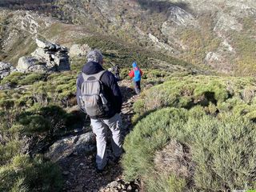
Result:
<svg viewBox="0 0 256 192">
<path fill-rule="evenodd" d="M 164 186 L 151 188 L 153 185 L 147 183 L 152 177 L 155 183 L 162 180 L 161 173 L 154 174 L 154 155 L 174 138 L 190 147 L 195 165 L 194 190 L 252 189 L 256 177 L 255 128 L 254 122 L 234 114 L 222 119 L 207 115 L 202 106 L 158 110 L 138 122 L 126 137 L 122 159 L 126 179 L 142 178 L 150 187 L 147 191 L 162 191 L 178 184 L 164 180 Z"/>
</svg>

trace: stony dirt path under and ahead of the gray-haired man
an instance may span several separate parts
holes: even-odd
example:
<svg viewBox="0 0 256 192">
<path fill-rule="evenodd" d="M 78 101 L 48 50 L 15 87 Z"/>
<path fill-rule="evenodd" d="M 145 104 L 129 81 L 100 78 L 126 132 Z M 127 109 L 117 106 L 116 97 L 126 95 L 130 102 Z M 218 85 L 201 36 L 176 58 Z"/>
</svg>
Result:
<svg viewBox="0 0 256 192">
<path fill-rule="evenodd" d="M 122 106 L 122 121 L 124 136 L 129 133 L 131 118 L 133 116 L 133 104 L 138 96 L 134 96 L 134 91 L 130 89 L 131 82 L 123 80 L 119 83 L 124 102 Z M 110 144 L 110 143 L 109 143 Z M 101 174 L 98 174 L 94 168 L 95 154 L 93 153 L 73 153 L 63 158 L 58 163 L 62 167 L 62 174 L 65 180 L 63 191 L 83 192 L 83 191 L 139 191 L 139 183 L 124 182 L 122 167 L 120 162 L 111 161 L 110 145 L 107 150 L 110 160 Z"/>
</svg>

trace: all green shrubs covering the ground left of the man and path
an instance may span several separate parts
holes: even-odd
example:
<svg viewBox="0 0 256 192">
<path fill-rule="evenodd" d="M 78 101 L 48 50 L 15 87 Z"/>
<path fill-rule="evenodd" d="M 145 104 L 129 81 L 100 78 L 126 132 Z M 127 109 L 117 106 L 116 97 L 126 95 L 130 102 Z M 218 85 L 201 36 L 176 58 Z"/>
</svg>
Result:
<svg viewBox="0 0 256 192">
<path fill-rule="evenodd" d="M 0 191 L 62 191 L 59 167 L 42 158 L 56 139 L 84 122 L 76 105 L 75 71 L 56 74 L 15 72 L 0 85 Z"/>
</svg>

